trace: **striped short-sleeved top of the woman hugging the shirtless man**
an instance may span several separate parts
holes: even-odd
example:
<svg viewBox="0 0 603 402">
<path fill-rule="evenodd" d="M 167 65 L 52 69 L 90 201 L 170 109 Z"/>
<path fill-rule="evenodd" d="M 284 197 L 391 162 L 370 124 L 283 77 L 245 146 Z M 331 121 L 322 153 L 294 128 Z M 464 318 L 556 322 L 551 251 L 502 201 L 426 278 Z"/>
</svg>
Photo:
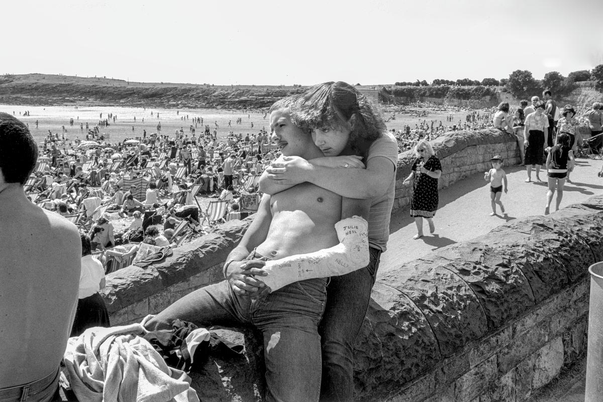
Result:
<svg viewBox="0 0 603 402">
<path fill-rule="evenodd" d="M 398 164 L 398 142 L 389 131 L 374 140 L 368 148 L 368 160 L 374 157 L 385 157 L 394 164 L 394 171 L 388 178 L 387 191 L 377 195 L 371 201 L 368 213 L 368 245 L 385 251 L 390 238 L 391 208 L 394 206 L 396 190 L 396 168 Z"/>
</svg>

